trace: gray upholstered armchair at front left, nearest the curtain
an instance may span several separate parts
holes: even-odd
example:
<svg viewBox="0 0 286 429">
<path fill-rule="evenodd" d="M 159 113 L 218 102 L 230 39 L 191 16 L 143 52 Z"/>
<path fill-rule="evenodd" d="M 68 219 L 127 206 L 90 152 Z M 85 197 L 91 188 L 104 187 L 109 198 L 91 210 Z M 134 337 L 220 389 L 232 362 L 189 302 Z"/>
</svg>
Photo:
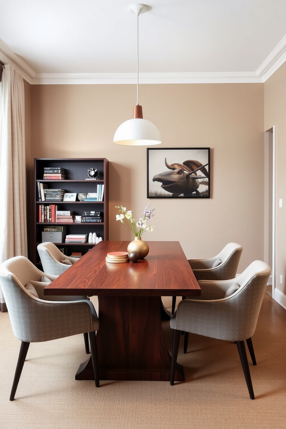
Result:
<svg viewBox="0 0 286 429">
<path fill-rule="evenodd" d="M 16 256 L 0 265 L 0 284 L 5 297 L 13 333 L 21 341 L 10 401 L 18 382 L 31 342 L 49 341 L 87 333 L 96 387 L 99 387 L 96 331 L 99 320 L 92 302 L 81 296 L 43 295 L 45 273 L 24 256 Z M 47 275 L 50 280 L 56 277 Z M 57 299 L 55 301 L 54 299 Z"/>
</svg>

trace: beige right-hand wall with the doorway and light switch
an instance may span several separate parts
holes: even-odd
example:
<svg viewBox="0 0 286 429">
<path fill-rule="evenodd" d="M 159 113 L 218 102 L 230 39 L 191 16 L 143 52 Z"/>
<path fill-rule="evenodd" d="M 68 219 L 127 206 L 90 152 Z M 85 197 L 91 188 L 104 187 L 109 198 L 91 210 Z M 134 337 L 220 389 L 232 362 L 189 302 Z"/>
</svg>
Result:
<svg viewBox="0 0 286 429">
<path fill-rule="evenodd" d="M 276 287 L 286 294 L 286 63 L 265 82 L 265 130 L 276 125 Z M 279 208 L 279 199 L 283 208 Z M 283 283 L 280 284 L 280 274 Z"/>
</svg>

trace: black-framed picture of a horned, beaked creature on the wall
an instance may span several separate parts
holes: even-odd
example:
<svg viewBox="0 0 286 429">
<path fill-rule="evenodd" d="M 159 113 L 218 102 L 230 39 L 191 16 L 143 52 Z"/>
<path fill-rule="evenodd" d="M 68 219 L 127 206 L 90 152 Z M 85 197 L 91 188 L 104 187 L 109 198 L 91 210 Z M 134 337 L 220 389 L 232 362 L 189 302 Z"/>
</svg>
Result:
<svg viewBox="0 0 286 429">
<path fill-rule="evenodd" d="M 147 198 L 170 197 L 210 198 L 210 148 L 147 149 Z"/>
</svg>

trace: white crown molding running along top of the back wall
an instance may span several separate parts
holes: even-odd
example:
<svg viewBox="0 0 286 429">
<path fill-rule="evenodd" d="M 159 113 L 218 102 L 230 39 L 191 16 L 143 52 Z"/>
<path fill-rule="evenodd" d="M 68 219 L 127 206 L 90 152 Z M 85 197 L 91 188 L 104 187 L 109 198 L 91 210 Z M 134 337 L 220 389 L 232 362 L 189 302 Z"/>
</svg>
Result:
<svg viewBox="0 0 286 429">
<path fill-rule="evenodd" d="M 118 85 L 136 84 L 136 73 L 43 73 L 32 85 Z M 257 73 L 139 73 L 140 84 L 261 83 Z"/>
</svg>

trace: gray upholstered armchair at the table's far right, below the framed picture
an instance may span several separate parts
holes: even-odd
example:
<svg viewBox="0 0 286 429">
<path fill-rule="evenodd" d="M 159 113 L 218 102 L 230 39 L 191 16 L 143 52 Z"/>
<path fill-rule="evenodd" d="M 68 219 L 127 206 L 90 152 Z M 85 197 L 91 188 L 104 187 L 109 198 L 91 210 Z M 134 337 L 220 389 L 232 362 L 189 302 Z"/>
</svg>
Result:
<svg viewBox="0 0 286 429">
<path fill-rule="evenodd" d="M 196 279 L 229 280 L 234 278 L 241 257 L 242 246 L 228 243 L 219 254 L 208 259 L 188 259 Z M 176 297 L 172 298 L 172 314 L 175 311 Z"/>
</svg>

